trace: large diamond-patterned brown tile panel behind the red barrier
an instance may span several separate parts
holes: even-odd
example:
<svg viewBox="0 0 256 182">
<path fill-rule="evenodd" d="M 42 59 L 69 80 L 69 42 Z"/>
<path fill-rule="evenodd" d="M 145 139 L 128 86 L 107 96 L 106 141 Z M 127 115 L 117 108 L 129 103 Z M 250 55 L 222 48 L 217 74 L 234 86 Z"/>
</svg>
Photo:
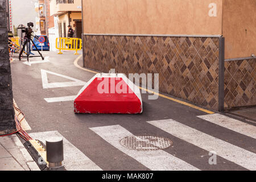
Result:
<svg viewBox="0 0 256 182">
<path fill-rule="evenodd" d="M 84 61 L 107 73 L 159 73 L 160 92 L 217 110 L 218 44 L 218 38 L 84 35 Z"/>
</svg>

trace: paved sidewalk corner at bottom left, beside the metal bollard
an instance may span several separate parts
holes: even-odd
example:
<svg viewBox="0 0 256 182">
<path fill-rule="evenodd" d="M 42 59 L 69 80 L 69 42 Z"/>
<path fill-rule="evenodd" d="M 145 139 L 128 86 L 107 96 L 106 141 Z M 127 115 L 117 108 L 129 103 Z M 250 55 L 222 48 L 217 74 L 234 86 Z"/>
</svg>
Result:
<svg viewBox="0 0 256 182">
<path fill-rule="evenodd" d="M 16 134 L 0 137 L 0 171 L 40 171 Z"/>
</svg>

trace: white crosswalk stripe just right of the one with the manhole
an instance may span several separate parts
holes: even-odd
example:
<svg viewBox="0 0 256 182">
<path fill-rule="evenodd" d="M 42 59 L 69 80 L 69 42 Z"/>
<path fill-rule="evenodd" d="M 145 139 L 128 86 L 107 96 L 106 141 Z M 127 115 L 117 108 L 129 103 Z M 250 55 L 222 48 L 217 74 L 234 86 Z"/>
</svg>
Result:
<svg viewBox="0 0 256 182">
<path fill-rule="evenodd" d="M 253 152 L 212 137 L 201 131 L 176 122 L 173 119 L 148 121 L 148 123 L 171 135 L 174 135 L 177 138 L 203 148 L 204 150 L 215 151 L 218 156 L 230 160 L 242 167 L 250 170 L 256 170 L 256 154 Z"/>
</svg>

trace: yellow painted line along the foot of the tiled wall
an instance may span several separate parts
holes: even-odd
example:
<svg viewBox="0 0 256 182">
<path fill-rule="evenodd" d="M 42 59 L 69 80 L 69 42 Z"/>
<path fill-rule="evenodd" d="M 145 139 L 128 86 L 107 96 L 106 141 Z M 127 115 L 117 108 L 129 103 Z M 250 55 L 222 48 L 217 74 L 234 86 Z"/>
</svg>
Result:
<svg viewBox="0 0 256 182">
<path fill-rule="evenodd" d="M 87 71 L 87 72 L 95 73 L 95 74 L 100 73 L 100 72 L 92 71 L 92 70 L 90 70 L 90 69 L 86 69 L 86 68 L 81 67 L 81 66 L 78 64 L 78 61 L 79 61 L 79 59 L 80 59 L 81 57 L 82 57 L 82 55 L 80 55 L 79 57 L 77 57 L 77 59 L 74 61 L 73 64 L 75 65 L 75 67 L 77 67 L 77 68 L 79 68 L 79 69 L 82 69 L 82 70 L 84 70 L 84 71 Z M 203 112 L 205 112 L 205 113 L 208 113 L 208 114 L 214 114 L 213 111 L 210 111 L 210 110 L 201 108 L 201 107 L 196 106 L 196 105 L 193 105 L 193 104 L 189 104 L 188 102 L 180 101 L 180 100 L 177 100 L 177 99 L 175 99 L 175 98 L 165 96 L 164 94 L 156 93 L 156 92 L 154 92 L 154 91 L 152 91 L 152 90 L 148 90 L 148 89 L 146 89 L 146 88 L 142 88 L 142 87 L 140 87 L 140 86 L 139 86 L 139 89 L 145 90 L 145 91 L 148 92 L 148 93 L 156 94 L 156 95 L 158 95 L 159 97 L 166 98 L 166 99 L 168 99 L 168 100 L 177 102 L 177 103 L 179 103 L 179 104 L 183 104 L 183 105 L 192 107 L 192 108 L 194 108 L 194 109 L 201 110 L 201 111 L 203 111 Z"/>
</svg>

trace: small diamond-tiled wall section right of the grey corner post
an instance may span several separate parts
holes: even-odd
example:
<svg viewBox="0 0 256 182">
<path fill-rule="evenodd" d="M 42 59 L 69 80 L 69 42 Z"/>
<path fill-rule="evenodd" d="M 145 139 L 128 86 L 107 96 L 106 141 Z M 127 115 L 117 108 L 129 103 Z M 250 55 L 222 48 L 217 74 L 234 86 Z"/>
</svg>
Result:
<svg viewBox="0 0 256 182">
<path fill-rule="evenodd" d="M 256 105 L 256 59 L 225 61 L 224 107 Z"/>
</svg>

